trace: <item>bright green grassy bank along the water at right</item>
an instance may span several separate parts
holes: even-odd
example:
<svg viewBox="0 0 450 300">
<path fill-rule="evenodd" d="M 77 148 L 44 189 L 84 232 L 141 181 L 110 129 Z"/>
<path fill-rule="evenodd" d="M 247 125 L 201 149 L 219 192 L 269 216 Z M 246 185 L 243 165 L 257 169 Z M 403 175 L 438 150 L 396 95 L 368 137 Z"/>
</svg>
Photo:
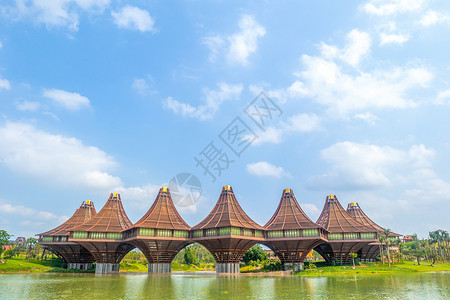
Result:
<svg viewBox="0 0 450 300">
<path fill-rule="evenodd" d="M 317 268 L 298 272 L 298 276 L 339 276 L 339 275 L 372 275 L 372 274 L 393 274 L 393 273 L 414 273 L 414 272 L 439 272 L 450 271 L 450 263 L 436 263 L 433 267 L 430 263 L 405 261 L 395 263 L 389 267 L 387 264 L 371 263 L 368 265 L 356 266 L 352 269 L 351 265 L 328 266 L 325 263 L 317 264 Z"/>
</svg>

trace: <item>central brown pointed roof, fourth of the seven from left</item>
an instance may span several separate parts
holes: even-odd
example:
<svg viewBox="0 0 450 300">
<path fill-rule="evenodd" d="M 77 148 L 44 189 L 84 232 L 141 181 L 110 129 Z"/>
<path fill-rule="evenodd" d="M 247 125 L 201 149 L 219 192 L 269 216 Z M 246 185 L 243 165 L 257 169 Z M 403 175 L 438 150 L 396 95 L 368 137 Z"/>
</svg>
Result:
<svg viewBox="0 0 450 300">
<path fill-rule="evenodd" d="M 226 185 L 223 187 L 219 200 L 217 200 L 216 205 L 209 215 L 203 219 L 203 221 L 192 227 L 192 229 L 196 230 L 229 226 L 264 230 L 262 226 L 247 216 L 237 202 L 231 186 Z"/>
</svg>

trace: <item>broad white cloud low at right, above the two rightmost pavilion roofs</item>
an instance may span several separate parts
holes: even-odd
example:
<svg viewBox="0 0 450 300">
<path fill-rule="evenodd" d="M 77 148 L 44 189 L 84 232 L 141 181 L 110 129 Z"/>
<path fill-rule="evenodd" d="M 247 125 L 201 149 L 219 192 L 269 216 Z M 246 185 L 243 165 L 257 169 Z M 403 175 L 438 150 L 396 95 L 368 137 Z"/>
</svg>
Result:
<svg viewBox="0 0 450 300">
<path fill-rule="evenodd" d="M 374 189 L 408 182 L 409 173 L 430 166 L 434 150 L 414 145 L 408 151 L 389 146 L 341 142 L 321 151 L 330 164 L 325 174 L 309 178 L 310 187 Z"/>
</svg>

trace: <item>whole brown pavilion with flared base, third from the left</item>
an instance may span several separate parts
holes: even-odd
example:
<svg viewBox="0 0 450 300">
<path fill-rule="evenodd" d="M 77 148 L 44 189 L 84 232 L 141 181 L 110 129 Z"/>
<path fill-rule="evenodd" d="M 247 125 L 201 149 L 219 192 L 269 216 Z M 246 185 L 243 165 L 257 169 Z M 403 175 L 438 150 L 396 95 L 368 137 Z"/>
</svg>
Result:
<svg viewBox="0 0 450 300">
<path fill-rule="evenodd" d="M 190 229 L 176 210 L 169 189 L 163 187 L 147 213 L 124 232 L 124 237 L 145 255 L 150 273 L 170 273 L 175 255 L 191 243 Z"/>
</svg>

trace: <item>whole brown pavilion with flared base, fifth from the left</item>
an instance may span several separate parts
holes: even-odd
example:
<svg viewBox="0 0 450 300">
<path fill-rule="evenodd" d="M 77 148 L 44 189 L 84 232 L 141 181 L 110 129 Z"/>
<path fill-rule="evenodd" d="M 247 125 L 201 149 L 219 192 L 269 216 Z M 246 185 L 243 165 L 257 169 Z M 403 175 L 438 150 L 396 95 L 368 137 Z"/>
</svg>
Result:
<svg viewBox="0 0 450 300">
<path fill-rule="evenodd" d="M 308 253 L 327 242 L 327 231 L 305 214 L 289 188 L 284 189 L 278 208 L 264 229 L 263 244 L 275 252 L 285 270 L 303 269 Z"/>
</svg>

